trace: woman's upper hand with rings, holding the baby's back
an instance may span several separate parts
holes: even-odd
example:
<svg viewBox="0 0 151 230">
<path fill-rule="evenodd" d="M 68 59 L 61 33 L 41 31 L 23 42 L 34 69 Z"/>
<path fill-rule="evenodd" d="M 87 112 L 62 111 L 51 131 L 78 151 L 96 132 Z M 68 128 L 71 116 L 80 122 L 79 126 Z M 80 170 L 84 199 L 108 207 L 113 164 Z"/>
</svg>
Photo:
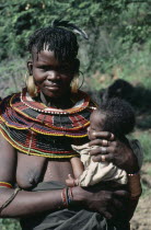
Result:
<svg viewBox="0 0 151 230">
<path fill-rule="evenodd" d="M 130 174 L 139 171 L 137 157 L 126 138 L 120 141 L 108 131 L 95 131 L 93 135 L 95 139 L 90 141 L 89 146 L 98 146 L 98 148 L 90 151 L 93 161 L 113 162 Z"/>
</svg>

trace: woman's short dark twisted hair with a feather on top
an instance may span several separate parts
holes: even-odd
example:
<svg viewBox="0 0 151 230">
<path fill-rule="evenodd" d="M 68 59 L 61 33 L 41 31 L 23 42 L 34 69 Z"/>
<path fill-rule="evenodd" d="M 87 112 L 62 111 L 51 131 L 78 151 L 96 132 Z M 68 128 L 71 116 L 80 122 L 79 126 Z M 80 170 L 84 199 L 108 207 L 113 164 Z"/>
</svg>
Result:
<svg viewBox="0 0 151 230">
<path fill-rule="evenodd" d="M 47 48 L 55 53 L 57 60 L 73 61 L 79 49 L 76 33 L 88 38 L 85 32 L 74 24 L 68 21 L 55 20 L 51 26 L 39 28 L 30 37 L 28 51 L 32 54 L 33 48 L 36 48 L 38 54 Z"/>
</svg>

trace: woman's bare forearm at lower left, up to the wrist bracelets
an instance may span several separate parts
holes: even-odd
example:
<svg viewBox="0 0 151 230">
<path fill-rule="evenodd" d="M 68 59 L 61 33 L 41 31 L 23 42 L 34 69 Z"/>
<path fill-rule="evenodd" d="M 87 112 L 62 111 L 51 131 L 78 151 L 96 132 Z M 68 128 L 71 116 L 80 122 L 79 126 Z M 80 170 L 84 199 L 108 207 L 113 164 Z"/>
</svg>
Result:
<svg viewBox="0 0 151 230">
<path fill-rule="evenodd" d="M 14 189 L 1 188 L 1 205 L 8 200 Z M 65 208 L 61 199 L 61 191 L 51 192 L 25 192 L 20 191 L 15 198 L 1 210 L 1 218 L 20 218 L 40 214 L 48 210 L 58 210 Z"/>
</svg>

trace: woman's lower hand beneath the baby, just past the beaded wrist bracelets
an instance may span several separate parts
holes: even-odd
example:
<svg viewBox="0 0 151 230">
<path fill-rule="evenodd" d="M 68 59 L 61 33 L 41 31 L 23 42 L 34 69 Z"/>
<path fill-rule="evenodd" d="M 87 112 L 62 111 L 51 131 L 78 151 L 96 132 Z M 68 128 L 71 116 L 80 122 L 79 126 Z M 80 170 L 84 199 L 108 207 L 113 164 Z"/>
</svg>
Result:
<svg viewBox="0 0 151 230">
<path fill-rule="evenodd" d="M 116 219 L 123 211 L 125 219 L 128 218 L 126 216 L 126 203 L 129 194 L 126 191 L 118 189 L 112 192 L 105 187 L 101 188 L 100 185 L 95 185 L 88 188 L 72 187 L 72 192 L 73 200 L 76 204 L 78 202 L 78 206 L 83 204 L 85 208 L 97 211 L 107 219 Z"/>
</svg>

